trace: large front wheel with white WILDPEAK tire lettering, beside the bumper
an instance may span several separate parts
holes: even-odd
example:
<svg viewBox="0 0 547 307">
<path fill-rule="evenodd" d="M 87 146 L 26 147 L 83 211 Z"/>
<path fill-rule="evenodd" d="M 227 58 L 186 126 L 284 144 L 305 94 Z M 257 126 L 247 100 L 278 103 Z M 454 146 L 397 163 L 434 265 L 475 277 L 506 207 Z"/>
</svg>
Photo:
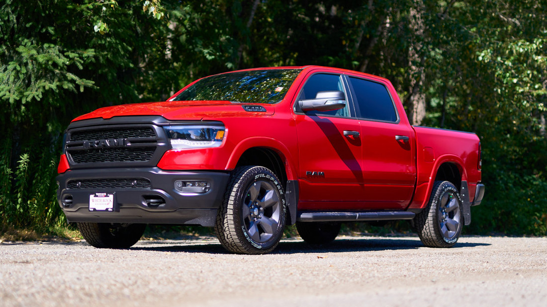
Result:
<svg viewBox="0 0 547 307">
<path fill-rule="evenodd" d="M 265 167 L 238 167 L 232 173 L 214 230 L 226 250 L 257 255 L 275 249 L 285 219 L 286 201 L 277 176 Z"/>
</svg>

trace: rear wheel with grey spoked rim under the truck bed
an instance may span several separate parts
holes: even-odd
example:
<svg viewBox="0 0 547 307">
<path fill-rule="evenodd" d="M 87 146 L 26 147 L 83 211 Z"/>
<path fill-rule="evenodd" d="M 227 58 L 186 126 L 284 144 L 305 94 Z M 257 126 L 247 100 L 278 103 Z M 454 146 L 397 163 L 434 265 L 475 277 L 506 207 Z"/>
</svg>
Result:
<svg viewBox="0 0 547 307">
<path fill-rule="evenodd" d="M 429 203 L 414 218 L 414 227 L 423 245 L 452 247 L 463 227 L 462 198 L 449 181 L 435 181 Z"/>
</svg>

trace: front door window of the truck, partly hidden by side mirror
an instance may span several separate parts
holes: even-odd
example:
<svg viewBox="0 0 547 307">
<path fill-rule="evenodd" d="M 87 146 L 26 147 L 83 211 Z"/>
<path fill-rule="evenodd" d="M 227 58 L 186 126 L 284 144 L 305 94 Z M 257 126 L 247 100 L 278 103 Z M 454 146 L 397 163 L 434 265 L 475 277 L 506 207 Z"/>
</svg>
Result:
<svg viewBox="0 0 547 307">
<path fill-rule="evenodd" d="M 302 99 L 313 99 L 317 95 L 317 92 L 322 91 L 342 91 L 344 92 L 344 84 L 342 84 L 342 79 L 340 75 L 331 75 L 331 74 L 315 74 L 307 79 L 306 84 L 300 92 L 298 100 Z M 306 115 L 331 115 L 331 116 L 341 116 L 341 117 L 350 117 L 350 106 L 346 98 L 346 107 L 340 110 L 333 111 L 308 111 Z"/>
</svg>

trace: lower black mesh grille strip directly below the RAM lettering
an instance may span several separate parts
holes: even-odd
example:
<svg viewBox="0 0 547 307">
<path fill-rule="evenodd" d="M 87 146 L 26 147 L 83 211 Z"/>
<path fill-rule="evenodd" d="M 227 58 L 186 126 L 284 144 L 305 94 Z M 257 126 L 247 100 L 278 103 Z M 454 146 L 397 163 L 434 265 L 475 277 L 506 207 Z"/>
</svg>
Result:
<svg viewBox="0 0 547 307">
<path fill-rule="evenodd" d="M 71 151 L 75 163 L 147 162 L 152 159 L 156 147 L 103 148 Z"/>
</svg>

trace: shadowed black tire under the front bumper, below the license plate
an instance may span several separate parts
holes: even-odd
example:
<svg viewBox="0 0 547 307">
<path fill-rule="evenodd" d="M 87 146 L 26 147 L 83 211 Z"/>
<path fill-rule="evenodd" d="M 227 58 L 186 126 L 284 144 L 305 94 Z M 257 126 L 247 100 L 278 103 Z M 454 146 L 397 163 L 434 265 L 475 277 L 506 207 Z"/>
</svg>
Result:
<svg viewBox="0 0 547 307">
<path fill-rule="evenodd" d="M 78 229 L 91 246 L 99 249 L 127 249 L 141 239 L 146 224 L 80 222 Z"/>
</svg>

